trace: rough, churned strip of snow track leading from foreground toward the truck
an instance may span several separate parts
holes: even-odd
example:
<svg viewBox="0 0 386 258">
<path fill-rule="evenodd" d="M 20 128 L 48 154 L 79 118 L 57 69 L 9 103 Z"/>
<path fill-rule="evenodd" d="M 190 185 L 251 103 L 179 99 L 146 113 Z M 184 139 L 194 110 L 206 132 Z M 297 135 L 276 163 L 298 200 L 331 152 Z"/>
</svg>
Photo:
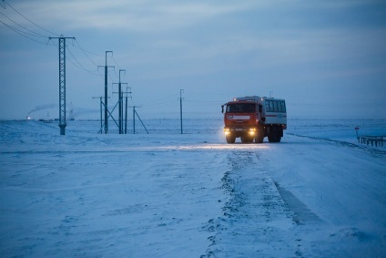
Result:
<svg viewBox="0 0 386 258">
<path fill-rule="evenodd" d="M 201 257 L 280 256 L 283 250 L 301 256 L 300 239 L 293 235 L 288 241 L 287 233 L 296 226 L 293 213 L 259 163 L 259 153 L 232 151 L 226 160 L 229 170 L 221 179 L 224 204 L 220 216 L 208 221 L 212 235 Z"/>
</svg>

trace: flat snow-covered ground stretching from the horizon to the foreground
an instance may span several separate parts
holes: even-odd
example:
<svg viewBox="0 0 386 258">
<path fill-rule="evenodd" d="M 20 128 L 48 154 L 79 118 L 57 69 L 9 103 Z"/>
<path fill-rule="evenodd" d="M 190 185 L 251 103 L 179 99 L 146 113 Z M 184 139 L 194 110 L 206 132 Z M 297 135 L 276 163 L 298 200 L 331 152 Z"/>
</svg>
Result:
<svg viewBox="0 0 386 258">
<path fill-rule="evenodd" d="M 386 146 L 354 130 L 386 120 L 290 120 L 274 144 L 144 122 L 0 121 L 0 256 L 386 256 Z"/>
</svg>

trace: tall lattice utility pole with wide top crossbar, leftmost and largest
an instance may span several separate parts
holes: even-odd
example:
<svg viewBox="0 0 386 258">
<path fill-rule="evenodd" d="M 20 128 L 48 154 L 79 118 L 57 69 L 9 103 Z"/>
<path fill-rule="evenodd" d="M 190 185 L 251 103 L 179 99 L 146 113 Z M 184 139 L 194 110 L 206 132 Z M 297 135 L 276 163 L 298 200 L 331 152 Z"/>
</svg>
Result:
<svg viewBox="0 0 386 258">
<path fill-rule="evenodd" d="M 59 40 L 59 128 L 60 135 L 66 135 L 66 38 L 75 37 L 48 37 L 53 38 Z"/>
</svg>

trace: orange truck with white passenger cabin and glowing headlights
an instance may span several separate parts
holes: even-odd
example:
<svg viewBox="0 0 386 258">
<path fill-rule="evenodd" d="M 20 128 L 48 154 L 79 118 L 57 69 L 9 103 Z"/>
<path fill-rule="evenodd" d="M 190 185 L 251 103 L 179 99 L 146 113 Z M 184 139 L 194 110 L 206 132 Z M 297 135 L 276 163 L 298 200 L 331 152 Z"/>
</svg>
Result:
<svg viewBox="0 0 386 258">
<path fill-rule="evenodd" d="M 228 143 L 237 138 L 243 143 L 279 142 L 287 129 L 286 101 L 259 96 L 233 98 L 221 106 L 224 133 Z"/>
</svg>

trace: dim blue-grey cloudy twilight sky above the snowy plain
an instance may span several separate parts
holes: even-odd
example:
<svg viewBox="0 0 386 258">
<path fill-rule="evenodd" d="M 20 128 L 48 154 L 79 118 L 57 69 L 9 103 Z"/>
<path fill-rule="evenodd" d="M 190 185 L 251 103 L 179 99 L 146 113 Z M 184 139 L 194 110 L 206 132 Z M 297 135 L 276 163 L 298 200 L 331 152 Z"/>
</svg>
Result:
<svg viewBox="0 0 386 258">
<path fill-rule="evenodd" d="M 76 119 L 99 119 L 107 50 L 109 104 L 126 69 L 142 119 L 179 119 L 180 89 L 187 119 L 250 95 L 290 119 L 386 119 L 383 0 L 0 0 L 0 119 L 58 118 L 60 35 Z"/>
</svg>

